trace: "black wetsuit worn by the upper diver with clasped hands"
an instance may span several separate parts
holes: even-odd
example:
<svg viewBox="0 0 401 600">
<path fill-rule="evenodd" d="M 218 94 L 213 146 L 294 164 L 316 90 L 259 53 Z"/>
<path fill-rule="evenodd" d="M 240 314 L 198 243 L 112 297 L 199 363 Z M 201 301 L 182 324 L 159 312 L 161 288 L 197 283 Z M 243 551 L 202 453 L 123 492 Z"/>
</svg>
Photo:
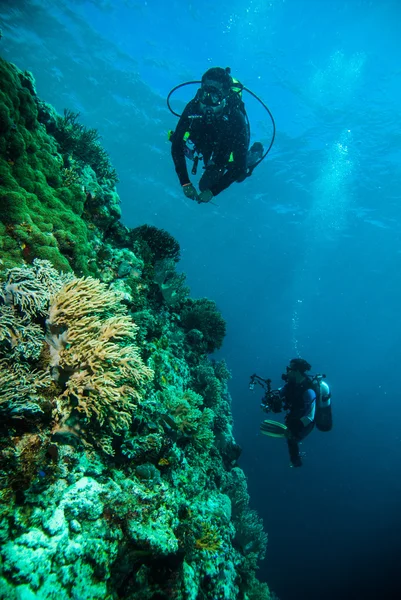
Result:
<svg viewBox="0 0 401 600">
<path fill-rule="evenodd" d="M 190 183 L 184 152 L 187 131 L 204 161 L 205 172 L 199 182 L 201 191 L 210 189 L 213 196 L 217 196 L 234 181 L 245 178 L 249 131 L 245 114 L 238 105 L 228 105 L 222 115 L 208 124 L 196 99 L 187 104 L 174 132 L 171 148 L 181 185 Z M 231 153 L 233 161 L 229 162 Z"/>
</svg>

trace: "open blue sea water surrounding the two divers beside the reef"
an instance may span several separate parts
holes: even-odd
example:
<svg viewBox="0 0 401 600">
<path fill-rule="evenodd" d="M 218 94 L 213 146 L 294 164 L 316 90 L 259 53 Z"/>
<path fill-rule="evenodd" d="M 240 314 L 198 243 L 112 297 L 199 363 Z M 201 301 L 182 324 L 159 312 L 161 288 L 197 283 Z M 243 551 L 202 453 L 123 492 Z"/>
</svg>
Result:
<svg viewBox="0 0 401 600">
<path fill-rule="evenodd" d="M 125 224 L 170 231 L 192 296 L 227 320 L 219 356 L 269 534 L 259 577 L 281 600 L 399 597 L 399 0 L 3 0 L 0 21 L 1 55 L 98 128 Z M 178 185 L 165 97 L 216 65 L 263 98 L 277 138 L 252 178 L 199 206 Z M 268 143 L 266 113 L 247 108 Z M 254 372 L 278 385 L 294 356 L 327 374 L 335 420 L 305 440 L 302 469 L 259 435 L 248 390 Z"/>
</svg>

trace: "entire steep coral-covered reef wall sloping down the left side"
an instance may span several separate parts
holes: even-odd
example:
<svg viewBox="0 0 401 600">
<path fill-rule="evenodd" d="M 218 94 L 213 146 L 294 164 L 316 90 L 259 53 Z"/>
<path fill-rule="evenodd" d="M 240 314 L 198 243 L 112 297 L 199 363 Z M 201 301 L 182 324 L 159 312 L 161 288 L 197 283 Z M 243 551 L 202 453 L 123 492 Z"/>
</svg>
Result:
<svg viewBox="0 0 401 600">
<path fill-rule="evenodd" d="M 97 132 L 0 81 L 0 599 L 268 600 L 216 304 Z"/>
</svg>

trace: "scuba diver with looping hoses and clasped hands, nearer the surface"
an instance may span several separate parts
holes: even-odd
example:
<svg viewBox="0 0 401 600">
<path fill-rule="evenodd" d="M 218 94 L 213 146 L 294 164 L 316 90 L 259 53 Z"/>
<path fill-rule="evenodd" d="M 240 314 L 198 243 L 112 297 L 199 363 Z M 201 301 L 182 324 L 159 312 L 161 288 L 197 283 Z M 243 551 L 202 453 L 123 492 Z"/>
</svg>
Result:
<svg viewBox="0 0 401 600">
<path fill-rule="evenodd" d="M 252 174 L 273 145 L 275 133 L 267 152 L 264 153 L 261 142 L 255 142 L 248 150 L 250 126 L 242 91 L 248 91 L 255 98 L 257 96 L 234 80 L 228 67 L 213 67 L 206 71 L 195 97 L 186 105 L 182 115 L 178 115 L 171 109 L 169 98 L 179 87 L 192 83 L 199 82 L 180 84 L 168 95 L 169 109 L 180 117 L 176 130 L 169 132 L 169 139 L 175 170 L 185 196 L 198 203 L 206 203 L 234 181 L 242 182 Z M 257 100 L 268 111 L 275 131 L 269 109 L 259 98 Z M 200 193 L 189 179 L 186 158 L 194 161 L 193 175 L 196 175 L 199 160 L 203 159 Z"/>
</svg>

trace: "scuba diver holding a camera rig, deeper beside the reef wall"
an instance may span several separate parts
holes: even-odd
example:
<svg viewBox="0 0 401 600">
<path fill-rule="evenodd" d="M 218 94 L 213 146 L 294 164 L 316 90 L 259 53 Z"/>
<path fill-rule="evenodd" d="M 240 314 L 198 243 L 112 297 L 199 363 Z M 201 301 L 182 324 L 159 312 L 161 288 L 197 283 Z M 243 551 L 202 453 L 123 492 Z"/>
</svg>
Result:
<svg viewBox="0 0 401 600">
<path fill-rule="evenodd" d="M 258 375 L 251 376 L 250 389 L 255 383 L 265 390 L 262 409 L 265 412 L 279 413 L 288 411 L 285 425 L 278 421 L 265 420 L 260 426 L 263 434 L 284 438 L 287 441 L 292 467 L 301 467 L 302 458 L 299 443 L 306 438 L 313 428 L 330 431 L 332 422 L 330 388 L 323 379 L 325 375 L 310 376 L 311 365 L 303 358 L 293 358 L 281 378 L 286 382 L 278 390 L 271 389 L 271 379 L 262 379 Z"/>
</svg>

